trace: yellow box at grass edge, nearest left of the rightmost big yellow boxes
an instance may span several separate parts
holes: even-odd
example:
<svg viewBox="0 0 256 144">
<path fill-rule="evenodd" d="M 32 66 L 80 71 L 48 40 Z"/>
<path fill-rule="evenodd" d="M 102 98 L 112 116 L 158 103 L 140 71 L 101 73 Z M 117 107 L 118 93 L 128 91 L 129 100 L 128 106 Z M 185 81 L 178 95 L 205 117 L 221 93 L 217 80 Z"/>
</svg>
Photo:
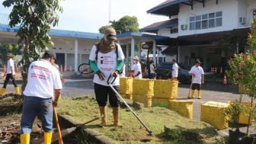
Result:
<svg viewBox="0 0 256 144">
<path fill-rule="evenodd" d="M 171 100 L 169 101 L 168 108 L 177 111 L 183 117 L 193 119 L 193 103 L 189 100 Z"/>
</svg>

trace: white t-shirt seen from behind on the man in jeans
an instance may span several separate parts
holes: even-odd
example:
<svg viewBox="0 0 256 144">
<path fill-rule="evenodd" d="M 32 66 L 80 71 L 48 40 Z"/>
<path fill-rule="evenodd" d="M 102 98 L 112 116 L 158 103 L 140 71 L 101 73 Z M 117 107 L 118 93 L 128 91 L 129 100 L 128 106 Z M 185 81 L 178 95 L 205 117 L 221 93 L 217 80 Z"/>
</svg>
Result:
<svg viewBox="0 0 256 144">
<path fill-rule="evenodd" d="M 53 98 L 54 89 L 62 89 L 59 72 L 49 61 L 41 59 L 30 64 L 27 74 L 26 96 Z"/>
</svg>

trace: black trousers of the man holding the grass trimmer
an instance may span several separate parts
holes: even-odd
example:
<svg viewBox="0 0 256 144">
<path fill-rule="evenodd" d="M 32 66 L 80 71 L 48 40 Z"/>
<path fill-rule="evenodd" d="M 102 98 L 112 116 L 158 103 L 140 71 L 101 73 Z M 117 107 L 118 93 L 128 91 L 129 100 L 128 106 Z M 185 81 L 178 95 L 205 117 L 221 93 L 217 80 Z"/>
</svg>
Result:
<svg viewBox="0 0 256 144">
<path fill-rule="evenodd" d="M 119 86 L 113 87 L 115 88 L 115 90 L 119 91 Z M 96 96 L 96 101 L 100 107 L 105 107 L 107 105 L 107 98 L 111 107 L 119 107 L 120 98 L 110 88 L 110 86 L 94 83 L 94 92 Z"/>
</svg>

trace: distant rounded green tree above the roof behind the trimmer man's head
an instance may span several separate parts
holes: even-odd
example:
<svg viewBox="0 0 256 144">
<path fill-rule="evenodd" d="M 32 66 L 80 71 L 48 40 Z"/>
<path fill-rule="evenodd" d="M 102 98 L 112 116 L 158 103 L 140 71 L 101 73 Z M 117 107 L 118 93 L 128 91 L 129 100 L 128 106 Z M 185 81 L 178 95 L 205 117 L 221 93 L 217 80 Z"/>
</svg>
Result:
<svg viewBox="0 0 256 144">
<path fill-rule="evenodd" d="M 123 18 L 120 18 L 119 21 L 110 21 L 110 25 L 102 26 L 99 29 L 99 32 L 103 34 L 103 30 L 107 27 L 113 27 L 117 30 L 117 33 L 137 32 L 139 31 L 138 18 L 126 15 Z"/>
</svg>

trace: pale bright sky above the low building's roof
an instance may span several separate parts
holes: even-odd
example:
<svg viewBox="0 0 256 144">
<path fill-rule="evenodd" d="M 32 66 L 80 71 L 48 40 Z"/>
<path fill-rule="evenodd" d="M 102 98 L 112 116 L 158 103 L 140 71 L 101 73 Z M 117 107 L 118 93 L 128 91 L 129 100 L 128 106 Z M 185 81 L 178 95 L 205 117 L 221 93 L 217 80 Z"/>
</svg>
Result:
<svg viewBox="0 0 256 144">
<path fill-rule="evenodd" d="M 109 20 L 118 21 L 125 15 L 136 16 L 139 28 L 142 28 L 168 20 L 165 16 L 146 13 L 162 2 L 165 0 L 64 0 L 61 2 L 63 12 L 59 13 L 59 24 L 53 28 L 98 33 L 98 29 L 109 24 Z M 0 5 L 0 13 L 8 14 L 10 11 L 11 8 Z"/>
</svg>

